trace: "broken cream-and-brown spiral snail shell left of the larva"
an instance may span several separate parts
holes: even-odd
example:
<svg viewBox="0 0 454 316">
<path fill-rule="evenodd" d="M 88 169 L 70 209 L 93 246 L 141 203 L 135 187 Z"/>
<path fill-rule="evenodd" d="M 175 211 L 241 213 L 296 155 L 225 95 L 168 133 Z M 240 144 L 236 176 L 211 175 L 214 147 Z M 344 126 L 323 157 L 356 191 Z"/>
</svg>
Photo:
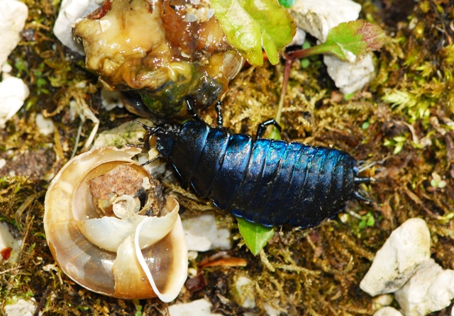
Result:
<svg viewBox="0 0 454 316">
<path fill-rule="evenodd" d="M 131 160 L 139 152 L 135 147 L 105 147 L 71 159 L 45 196 L 45 235 L 57 264 L 84 288 L 116 298 L 157 296 L 170 302 L 187 278 L 186 242 L 175 198 L 167 197 L 160 217 L 143 215 L 151 203 L 141 208 L 138 198 L 128 194 L 114 197 L 112 211 L 103 213 L 89 188 L 92 179 L 123 165 L 149 188 L 153 180 Z"/>
</svg>

